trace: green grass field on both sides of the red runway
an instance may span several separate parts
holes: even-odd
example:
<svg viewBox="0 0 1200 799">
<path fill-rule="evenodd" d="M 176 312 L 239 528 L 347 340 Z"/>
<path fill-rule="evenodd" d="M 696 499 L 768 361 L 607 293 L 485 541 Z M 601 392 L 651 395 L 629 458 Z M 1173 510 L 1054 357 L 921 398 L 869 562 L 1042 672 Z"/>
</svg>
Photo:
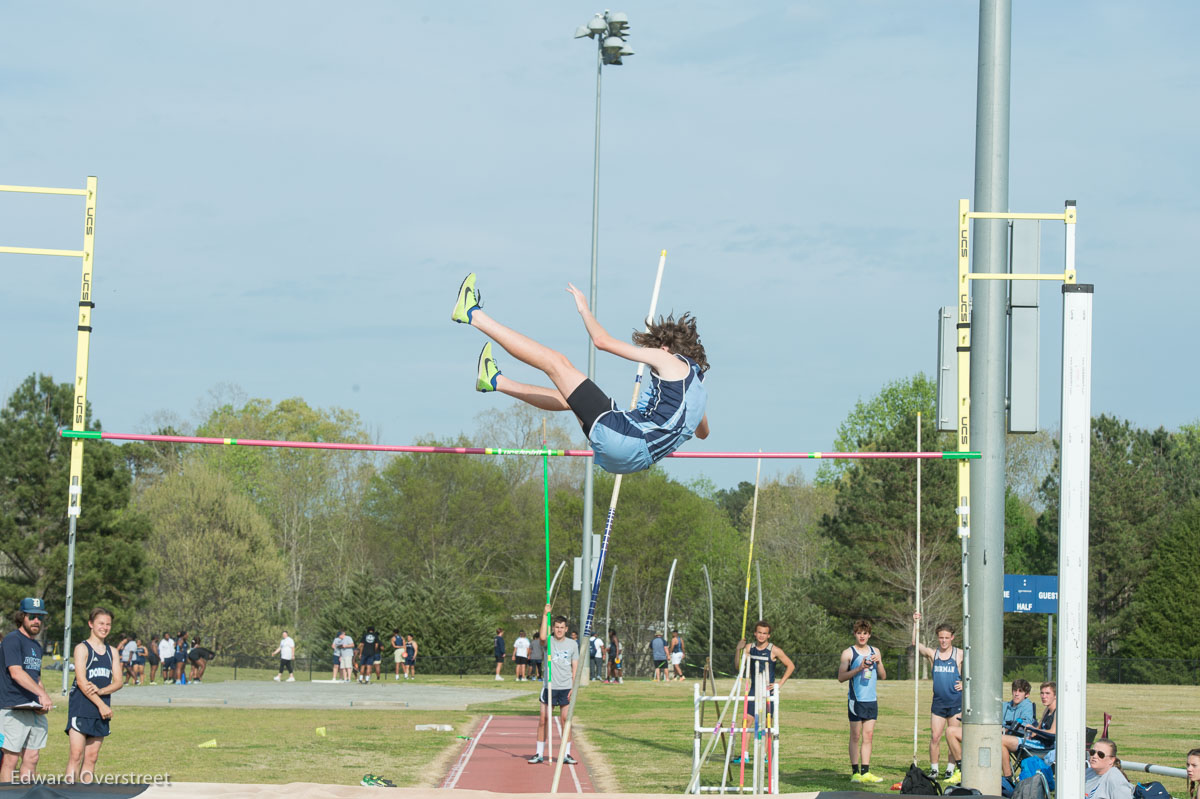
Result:
<svg viewBox="0 0 1200 799">
<path fill-rule="evenodd" d="M 253 674 L 246 669 L 239 669 L 238 675 L 271 678 L 270 672 Z M 224 677 L 221 671 L 210 669 L 204 681 Z M 485 677 L 431 677 L 422 681 L 473 689 L 524 686 Z M 727 693 L 730 686 L 728 680 L 722 680 L 718 687 Z M 118 693 L 114 733 L 104 744 L 100 770 L 168 773 L 175 781 L 341 785 L 358 783 L 364 774 L 372 773 L 384 774 L 401 786 L 432 786 L 466 744 L 457 735 L 468 734 L 475 720 L 488 713 L 535 714 L 534 687 L 528 686 L 526 697 L 472 705 L 466 713 L 122 708 Z M 923 683 L 922 689 L 918 756 L 925 764 L 929 683 Z M 1112 714 L 1111 735 L 1122 757 L 1182 767 L 1184 753 L 1200 745 L 1196 707 L 1200 707 L 1200 687 L 1093 685 L 1088 687 L 1087 719 L 1091 726 L 1099 727 L 1100 715 Z M 781 791 L 850 788 L 845 687 L 834 680 L 790 681 L 780 713 Z M 601 789 L 650 793 L 684 789 L 691 770 L 692 683 L 629 680 L 624 685 L 594 685 L 580 697 L 577 721 L 586 738 L 584 752 L 590 753 L 588 765 Z M 66 735 L 61 732 L 65 723 L 65 708 L 52 711 L 50 745 L 38 769 L 42 773 L 61 773 L 65 768 Z M 449 723 L 455 731 L 414 731 L 420 723 Z M 715 723 L 715 711 L 706 713 L 706 723 Z M 317 727 L 325 727 L 326 735 L 317 735 Z M 901 779 L 912 758 L 912 683 L 880 684 L 880 721 L 871 770 L 884 781 L 875 786 L 876 791 L 887 792 L 892 782 Z M 216 747 L 198 749 L 198 744 L 211 739 L 217 740 Z M 529 741 L 530 753 L 533 743 Z M 716 767 L 710 765 L 706 782 L 716 773 Z M 1181 781 L 1163 781 L 1168 789 L 1182 792 Z"/>
</svg>

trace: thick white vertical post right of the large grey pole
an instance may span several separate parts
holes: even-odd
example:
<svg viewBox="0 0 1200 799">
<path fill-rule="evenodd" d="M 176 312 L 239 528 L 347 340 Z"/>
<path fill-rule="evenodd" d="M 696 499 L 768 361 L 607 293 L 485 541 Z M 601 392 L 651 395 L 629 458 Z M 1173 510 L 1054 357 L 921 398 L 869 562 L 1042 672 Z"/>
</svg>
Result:
<svg viewBox="0 0 1200 799">
<path fill-rule="evenodd" d="M 1073 211 L 1073 203 L 1068 211 Z M 1075 226 L 1067 222 L 1067 272 Z M 1092 444 L 1092 287 L 1062 287 L 1062 455 L 1058 498 L 1058 795 L 1084 795 L 1087 545 Z"/>
</svg>

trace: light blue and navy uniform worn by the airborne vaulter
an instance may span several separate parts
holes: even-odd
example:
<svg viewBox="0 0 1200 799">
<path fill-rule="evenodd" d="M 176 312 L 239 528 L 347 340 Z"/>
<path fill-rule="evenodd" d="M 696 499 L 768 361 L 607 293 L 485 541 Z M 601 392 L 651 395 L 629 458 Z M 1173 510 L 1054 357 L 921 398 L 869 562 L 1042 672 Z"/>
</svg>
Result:
<svg viewBox="0 0 1200 799">
<path fill-rule="evenodd" d="M 596 465 L 605 471 L 648 469 L 695 435 L 708 402 L 704 376 L 696 361 L 678 353 L 676 358 L 689 367 L 683 379 L 664 380 L 650 370 L 634 410 L 617 410 L 613 403 L 588 431 Z"/>
</svg>

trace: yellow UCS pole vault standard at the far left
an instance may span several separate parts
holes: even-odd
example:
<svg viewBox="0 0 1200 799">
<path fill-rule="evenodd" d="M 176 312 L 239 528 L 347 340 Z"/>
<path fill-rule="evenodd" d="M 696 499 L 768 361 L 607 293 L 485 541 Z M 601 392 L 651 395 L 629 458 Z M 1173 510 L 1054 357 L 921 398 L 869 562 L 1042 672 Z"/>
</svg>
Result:
<svg viewBox="0 0 1200 799">
<path fill-rule="evenodd" d="M 85 188 L 47 188 L 43 186 L 0 186 L 0 192 L 22 194 L 67 194 L 84 198 L 83 250 L 47 250 L 40 247 L 0 247 L 0 253 L 20 256 L 65 256 L 83 259 L 79 286 L 79 323 L 76 340 L 74 401 L 71 408 L 71 429 L 84 432 L 88 425 L 88 354 L 91 347 L 92 254 L 96 244 L 96 178 L 89 176 Z M 64 614 L 62 657 L 71 657 L 71 611 L 74 602 L 74 543 L 76 525 L 83 501 L 83 438 L 71 439 L 71 470 L 67 482 L 67 585 Z M 67 692 L 68 669 L 62 669 L 62 693 Z"/>
</svg>

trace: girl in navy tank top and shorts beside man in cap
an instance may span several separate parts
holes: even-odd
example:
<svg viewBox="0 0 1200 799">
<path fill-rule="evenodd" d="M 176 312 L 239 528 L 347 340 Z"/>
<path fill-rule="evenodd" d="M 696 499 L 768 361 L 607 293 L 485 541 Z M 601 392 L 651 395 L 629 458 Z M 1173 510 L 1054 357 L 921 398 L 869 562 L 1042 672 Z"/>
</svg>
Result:
<svg viewBox="0 0 1200 799">
<path fill-rule="evenodd" d="M 91 635 L 77 644 L 73 653 L 76 683 L 67 705 L 66 733 L 71 740 L 67 755 L 67 781 L 91 782 L 96 774 L 96 758 L 108 735 L 113 717 L 109 696 L 120 691 L 124 679 L 115 650 L 104 643 L 113 627 L 113 614 L 102 607 L 88 617 Z"/>
</svg>

